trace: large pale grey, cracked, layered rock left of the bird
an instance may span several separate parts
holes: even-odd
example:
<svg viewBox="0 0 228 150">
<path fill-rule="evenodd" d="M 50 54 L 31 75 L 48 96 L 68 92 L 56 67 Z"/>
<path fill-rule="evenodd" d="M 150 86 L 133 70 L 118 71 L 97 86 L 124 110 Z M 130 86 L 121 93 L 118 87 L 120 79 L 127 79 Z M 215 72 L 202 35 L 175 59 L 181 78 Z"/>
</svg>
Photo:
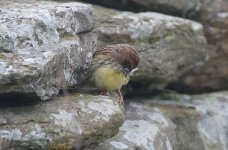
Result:
<svg viewBox="0 0 228 150">
<path fill-rule="evenodd" d="M 0 93 L 49 99 L 86 76 L 95 36 L 92 8 L 80 3 L 0 6 Z"/>
</svg>

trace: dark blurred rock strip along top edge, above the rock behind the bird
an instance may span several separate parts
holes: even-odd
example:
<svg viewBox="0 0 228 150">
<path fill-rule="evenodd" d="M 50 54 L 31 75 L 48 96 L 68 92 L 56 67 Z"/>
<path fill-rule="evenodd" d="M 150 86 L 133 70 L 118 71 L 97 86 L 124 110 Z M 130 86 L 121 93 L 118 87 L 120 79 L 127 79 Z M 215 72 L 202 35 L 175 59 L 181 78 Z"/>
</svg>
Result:
<svg viewBox="0 0 228 150">
<path fill-rule="evenodd" d="M 202 5 L 200 0 L 118 0 L 118 2 L 112 0 L 82 1 L 125 11 L 153 11 L 188 18 L 196 17 L 199 14 Z"/>
</svg>

